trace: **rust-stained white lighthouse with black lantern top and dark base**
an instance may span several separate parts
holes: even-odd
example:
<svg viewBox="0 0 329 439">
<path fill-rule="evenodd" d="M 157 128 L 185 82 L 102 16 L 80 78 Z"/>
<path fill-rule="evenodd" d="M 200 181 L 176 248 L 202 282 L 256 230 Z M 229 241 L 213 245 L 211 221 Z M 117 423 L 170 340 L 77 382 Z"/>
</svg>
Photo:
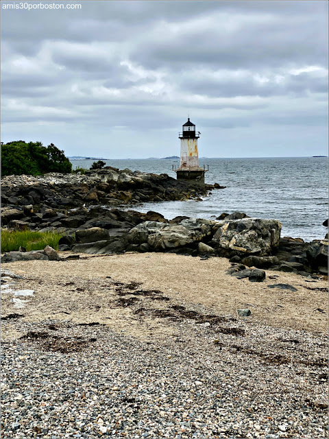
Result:
<svg viewBox="0 0 329 439">
<path fill-rule="evenodd" d="M 182 126 L 179 133 L 180 139 L 180 167 L 173 169 L 178 180 L 194 180 L 196 183 L 204 183 L 204 167 L 199 167 L 199 156 L 197 152 L 197 139 L 200 132 L 195 131 L 195 124 L 188 117 L 187 122 Z"/>
</svg>

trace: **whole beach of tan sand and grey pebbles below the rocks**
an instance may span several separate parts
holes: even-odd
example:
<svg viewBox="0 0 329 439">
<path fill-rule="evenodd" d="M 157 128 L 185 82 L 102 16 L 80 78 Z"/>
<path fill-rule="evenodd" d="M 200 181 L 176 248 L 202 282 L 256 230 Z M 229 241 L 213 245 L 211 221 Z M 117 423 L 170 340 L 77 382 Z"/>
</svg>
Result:
<svg viewBox="0 0 329 439">
<path fill-rule="evenodd" d="M 223 258 L 81 256 L 5 264 L 33 294 L 16 309 L 1 294 L 3 438 L 327 436 L 324 276 L 252 285 Z"/>
</svg>

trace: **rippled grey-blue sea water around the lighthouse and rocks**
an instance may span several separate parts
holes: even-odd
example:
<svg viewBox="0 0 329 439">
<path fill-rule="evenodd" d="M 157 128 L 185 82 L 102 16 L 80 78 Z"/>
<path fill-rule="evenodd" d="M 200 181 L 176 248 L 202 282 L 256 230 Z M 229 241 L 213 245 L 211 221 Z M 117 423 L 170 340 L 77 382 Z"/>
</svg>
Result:
<svg viewBox="0 0 329 439">
<path fill-rule="evenodd" d="M 94 160 L 72 161 L 89 169 Z M 106 160 L 106 165 L 132 171 L 168 174 L 179 159 Z M 172 219 L 177 215 L 213 219 L 222 212 L 241 211 L 250 217 L 275 218 L 282 222 L 282 236 L 305 241 L 322 239 L 328 218 L 328 158 L 200 158 L 209 165 L 207 183 L 226 189 L 214 190 L 202 201 L 147 202 L 134 209 L 156 211 Z"/>
</svg>

